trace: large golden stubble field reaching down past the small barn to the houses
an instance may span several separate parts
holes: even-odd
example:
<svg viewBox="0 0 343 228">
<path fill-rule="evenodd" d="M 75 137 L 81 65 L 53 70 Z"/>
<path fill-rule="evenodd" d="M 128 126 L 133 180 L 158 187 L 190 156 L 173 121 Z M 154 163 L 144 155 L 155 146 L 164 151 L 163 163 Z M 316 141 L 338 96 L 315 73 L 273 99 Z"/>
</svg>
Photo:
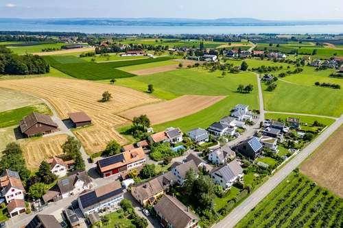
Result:
<svg viewBox="0 0 343 228">
<path fill-rule="evenodd" d="M 139 105 L 161 101 L 147 93 L 121 86 L 102 84 L 77 79 L 41 77 L 2 81 L 7 88 L 22 90 L 47 99 L 62 118 L 70 112 L 85 112 L 93 120 L 93 126 L 75 131 L 88 153 L 99 152 L 106 147 L 108 139 L 126 143 L 115 129 L 129 122 L 117 116 L 117 112 Z M 102 93 L 108 90 L 113 99 L 99 102 Z"/>
</svg>

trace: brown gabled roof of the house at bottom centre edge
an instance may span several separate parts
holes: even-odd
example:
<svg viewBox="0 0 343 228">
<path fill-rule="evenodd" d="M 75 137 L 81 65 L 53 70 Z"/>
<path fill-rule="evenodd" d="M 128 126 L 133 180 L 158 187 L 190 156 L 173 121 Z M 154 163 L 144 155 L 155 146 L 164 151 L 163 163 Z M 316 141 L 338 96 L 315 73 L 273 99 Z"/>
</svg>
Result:
<svg viewBox="0 0 343 228">
<path fill-rule="evenodd" d="M 189 227 L 188 224 L 191 220 L 199 220 L 198 216 L 188 211 L 188 207 L 168 195 L 163 195 L 156 203 L 155 208 L 175 228 Z"/>
</svg>

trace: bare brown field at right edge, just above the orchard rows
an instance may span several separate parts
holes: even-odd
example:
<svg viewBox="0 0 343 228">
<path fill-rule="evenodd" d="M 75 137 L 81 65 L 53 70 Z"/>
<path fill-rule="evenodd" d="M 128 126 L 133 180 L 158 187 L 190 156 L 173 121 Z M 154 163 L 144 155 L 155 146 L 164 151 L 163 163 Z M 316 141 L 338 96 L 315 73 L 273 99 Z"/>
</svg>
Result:
<svg viewBox="0 0 343 228">
<path fill-rule="evenodd" d="M 343 197 L 343 127 L 300 166 L 301 173 Z"/>
</svg>

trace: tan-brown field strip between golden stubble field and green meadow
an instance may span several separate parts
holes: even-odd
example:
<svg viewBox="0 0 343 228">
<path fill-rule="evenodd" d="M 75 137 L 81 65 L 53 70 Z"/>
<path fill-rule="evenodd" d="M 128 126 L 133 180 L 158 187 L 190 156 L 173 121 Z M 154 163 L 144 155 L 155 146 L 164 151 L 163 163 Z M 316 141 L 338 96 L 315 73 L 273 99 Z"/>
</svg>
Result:
<svg viewBox="0 0 343 228">
<path fill-rule="evenodd" d="M 132 120 L 134 116 L 146 114 L 150 118 L 151 125 L 157 125 L 204 110 L 224 98 L 225 96 L 184 95 L 163 103 L 135 107 L 119 115 Z"/>
</svg>

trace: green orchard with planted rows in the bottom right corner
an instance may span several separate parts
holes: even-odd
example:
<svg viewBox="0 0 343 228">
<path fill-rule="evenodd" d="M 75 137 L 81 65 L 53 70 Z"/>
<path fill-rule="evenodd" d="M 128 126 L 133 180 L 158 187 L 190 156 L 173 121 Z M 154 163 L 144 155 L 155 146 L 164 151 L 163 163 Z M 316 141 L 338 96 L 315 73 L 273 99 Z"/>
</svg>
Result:
<svg viewBox="0 0 343 228">
<path fill-rule="evenodd" d="M 342 227 L 342 210 L 342 199 L 292 173 L 235 227 Z"/>
</svg>

